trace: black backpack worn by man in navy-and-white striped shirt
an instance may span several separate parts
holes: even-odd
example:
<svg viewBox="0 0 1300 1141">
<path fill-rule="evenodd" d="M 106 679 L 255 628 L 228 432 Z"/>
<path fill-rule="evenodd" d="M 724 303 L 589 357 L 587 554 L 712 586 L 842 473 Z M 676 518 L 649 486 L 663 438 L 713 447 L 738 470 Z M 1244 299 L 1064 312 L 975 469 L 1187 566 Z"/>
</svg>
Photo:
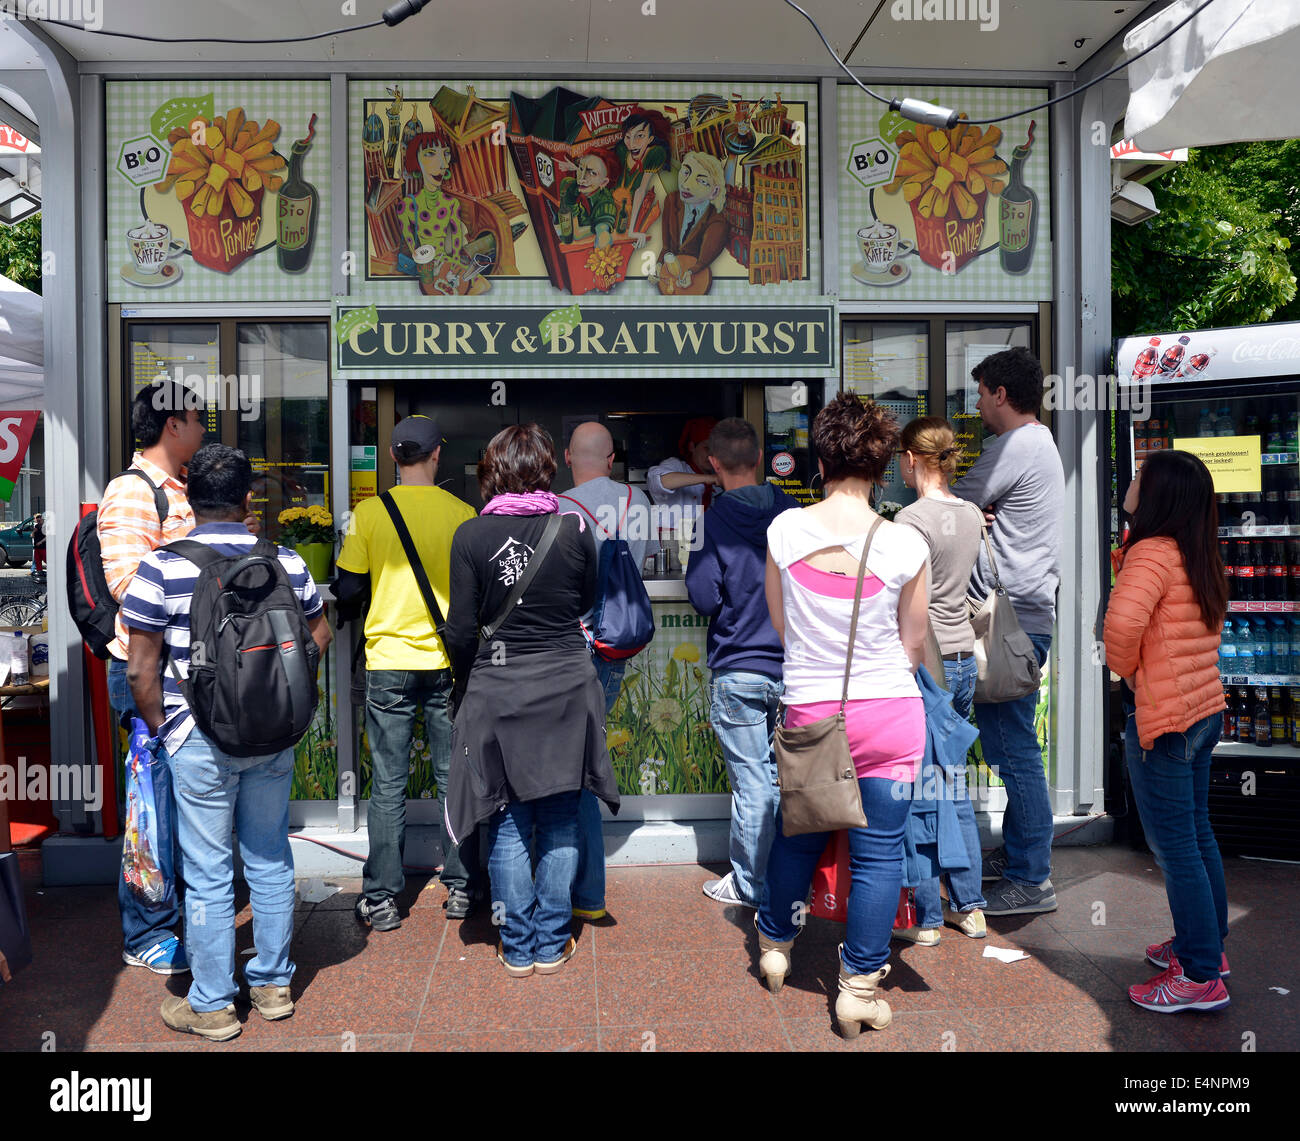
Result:
<svg viewBox="0 0 1300 1141">
<path fill-rule="evenodd" d="M 278 548 L 257 539 L 222 555 L 195 539 L 160 547 L 199 568 L 190 600 L 190 676 L 172 677 L 194 723 L 222 752 L 265 756 L 296 745 L 316 716 L 320 648 Z"/>
</svg>

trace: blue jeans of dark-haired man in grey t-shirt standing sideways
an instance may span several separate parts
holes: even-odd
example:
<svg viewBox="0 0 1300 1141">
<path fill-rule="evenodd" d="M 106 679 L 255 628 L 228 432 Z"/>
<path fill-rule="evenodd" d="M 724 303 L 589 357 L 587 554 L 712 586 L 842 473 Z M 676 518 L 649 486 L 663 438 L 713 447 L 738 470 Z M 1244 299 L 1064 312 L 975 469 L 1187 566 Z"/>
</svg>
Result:
<svg viewBox="0 0 1300 1141">
<path fill-rule="evenodd" d="M 1039 667 L 1052 650 L 1050 634 L 1030 634 Z M 1037 886 L 1052 876 L 1052 799 L 1043 769 L 1043 749 L 1034 728 L 1035 690 L 1014 702 L 975 703 L 984 762 L 1006 785 L 1002 847 L 1008 880 Z"/>
</svg>

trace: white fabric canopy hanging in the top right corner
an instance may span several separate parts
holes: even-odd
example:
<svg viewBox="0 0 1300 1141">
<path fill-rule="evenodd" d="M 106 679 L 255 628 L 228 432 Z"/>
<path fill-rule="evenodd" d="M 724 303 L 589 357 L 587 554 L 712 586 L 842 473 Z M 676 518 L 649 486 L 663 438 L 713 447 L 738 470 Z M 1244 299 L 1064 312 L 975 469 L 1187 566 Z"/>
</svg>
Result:
<svg viewBox="0 0 1300 1141">
<path fill-rule="evenodd" d="M 1124 36 L 1128 56 L 1204 0 L 1178 0 Z M 1213 0 L 1128 73 L 1124 136 L 1143 151 L 1300 136 L 1300 0 Z"/>
</svg>

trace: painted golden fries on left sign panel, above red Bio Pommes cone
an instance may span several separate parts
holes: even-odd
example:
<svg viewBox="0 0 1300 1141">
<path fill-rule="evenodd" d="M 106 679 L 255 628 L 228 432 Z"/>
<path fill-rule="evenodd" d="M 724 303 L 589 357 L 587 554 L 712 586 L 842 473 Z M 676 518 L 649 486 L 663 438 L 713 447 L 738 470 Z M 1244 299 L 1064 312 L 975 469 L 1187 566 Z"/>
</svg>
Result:
<svg viewBox="0 0 1300 1141">
<path fill-rule="evenodd" d="M 244 118 L 242 107 L 202 123 L 202 142 L 195 142 L 195 125 L 176 127 L 166 140 L 172 144 L 172 161 L 166 177 L 157 183 L 160 192 L 174 188 L 176 196 L 195 217 L 221 213 L 225 200 L 237 217 L 247 218 L 254 211 L 252 194 L 265 187 L 280 190 L 283 185 L 285 159 L 274 153 L 280 123 L 273 118 L 257 126 Z"/>
</svg>

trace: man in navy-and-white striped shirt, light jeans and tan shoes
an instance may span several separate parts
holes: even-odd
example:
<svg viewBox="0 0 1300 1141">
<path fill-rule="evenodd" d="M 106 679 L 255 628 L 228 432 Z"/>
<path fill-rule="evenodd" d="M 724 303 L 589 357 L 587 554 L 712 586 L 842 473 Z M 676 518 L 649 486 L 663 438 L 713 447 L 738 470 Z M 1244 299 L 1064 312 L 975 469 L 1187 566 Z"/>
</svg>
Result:
<svg viewBox="0 0 1300 1141">
<path fill-rule="evenodd" d="M 252 467 L 243 452 L 224 444 L 200 448 L 190 461 L 187 490 L 196 526 L 187 538 L 222 555 L 239 555 L 256 543 L 242 522 L 252 499 Z M 303 560 L 283 547 L 280 563 L 303 604 L 312 638 L 324 658 L 330 642 L 325 607 Z M 294 1012 L 289 980 L 294 964 L 294 856 L 289 846 L 289 788 L 294 750 L 269 756 L 230 756 L 194 724 L 162 650 L 177 672 L 188 677 L 190 603 L 199 568 L 170 551 L 152 551 L 122 600 L 130 629 L 127 678 L 135 706 L 176 785 L 177 836 L 185 856 L 186 927 L 194 982 L 186 997 L 162 1003 L 172 1029 L 226 1041 L 240 1032 L 235 1018 L 234 853 L 239 851 L 252 899 L 256 955 L 244 967 L 250 998 L 270 1020 Z"/>
</svg>

